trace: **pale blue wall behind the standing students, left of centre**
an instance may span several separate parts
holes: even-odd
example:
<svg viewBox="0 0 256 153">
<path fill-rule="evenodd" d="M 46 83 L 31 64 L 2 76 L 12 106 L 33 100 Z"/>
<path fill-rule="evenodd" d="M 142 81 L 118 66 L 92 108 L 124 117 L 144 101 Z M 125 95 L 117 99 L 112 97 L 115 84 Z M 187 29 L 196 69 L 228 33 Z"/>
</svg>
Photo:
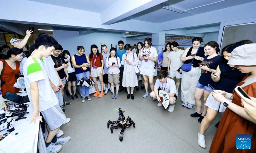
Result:
<svg viewBox="0 0 256 153">
<path fill-rule="evenodd" d="M 123 40 L 126 43 L 126 38 L 121 38 L 120 33 L 109 33 L 109 32 L 95 32 L 87 35 L 79 35 L 77 31 L 64 31 L 64 30 L 53 30 L 54 38 L 59 42 L 63 49 L 67 49 L 71 55 L 77 53 L 77 46 L 83 46 L 85 54 L 90 54 L 91 45 L 95 44 L 98 46 L 100 51 L 100 43 L 107 45 L 108 50 L 113 47 L 118 49 L 118 41 Z"/>
</svg>

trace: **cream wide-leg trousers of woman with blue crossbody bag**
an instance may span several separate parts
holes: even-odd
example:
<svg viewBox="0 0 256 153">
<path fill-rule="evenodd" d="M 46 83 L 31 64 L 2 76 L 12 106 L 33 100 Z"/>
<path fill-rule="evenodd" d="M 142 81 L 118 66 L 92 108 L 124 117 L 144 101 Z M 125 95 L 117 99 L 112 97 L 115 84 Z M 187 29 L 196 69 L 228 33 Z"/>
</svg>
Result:
<svg viewBox="0 0 256 153">
<path fill-rule="evenodd" d="M 194 95 L 200 76 L 201 69 L 199 67 L 192 67 L 189 72 L 182 71 L 181 101 L 196 105 Z"/>
</svg>

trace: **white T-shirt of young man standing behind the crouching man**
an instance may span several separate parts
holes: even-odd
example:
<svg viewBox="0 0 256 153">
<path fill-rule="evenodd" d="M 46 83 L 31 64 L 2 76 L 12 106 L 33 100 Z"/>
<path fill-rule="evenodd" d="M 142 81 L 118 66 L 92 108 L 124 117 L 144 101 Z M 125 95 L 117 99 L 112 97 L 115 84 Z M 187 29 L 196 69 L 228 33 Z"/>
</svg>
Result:
<svg viewBox="0 0 256 153">
<path fill-rule="evenodd" d="M 171 59 L 171 66 L 170 69 L 172 71 L 177 71 L 181 65 L 183 64 L 182 61 L 180 61 L 180 57 L 182 56 L 184 50 L 180 49 L 179 51 L 171 51 L 169 55 L 167 56 L 168 58 Z"/>
</svg>

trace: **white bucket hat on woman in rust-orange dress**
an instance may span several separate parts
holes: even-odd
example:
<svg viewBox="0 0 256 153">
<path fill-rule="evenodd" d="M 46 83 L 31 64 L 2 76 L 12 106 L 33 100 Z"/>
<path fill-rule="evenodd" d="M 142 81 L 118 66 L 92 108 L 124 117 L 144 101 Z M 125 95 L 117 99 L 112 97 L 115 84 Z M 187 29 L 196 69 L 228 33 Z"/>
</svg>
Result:
<svg viewBox="0 0 256 153">
<path fill-rule="evenodd" d="M 256 65 L 256 44 L 245 44 L 236 47 L 231 52 L 229 65 L 244 65 L 252 66 Z"/>
</svg>

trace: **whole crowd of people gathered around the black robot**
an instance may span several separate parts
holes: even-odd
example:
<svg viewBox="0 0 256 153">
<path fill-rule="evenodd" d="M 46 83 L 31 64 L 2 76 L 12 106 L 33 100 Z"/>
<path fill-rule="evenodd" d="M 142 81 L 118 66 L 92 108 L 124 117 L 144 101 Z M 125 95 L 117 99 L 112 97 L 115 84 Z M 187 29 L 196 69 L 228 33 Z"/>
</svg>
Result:
<svg viewBox="0 0 256 153">
<path fill-rule="evenodd" d="M 99 98 L 108 94 L 109 84 L 112 99 L 117 99 L 119 92 L 124 90 L 127 99 L 135 99 L 134 88 L 137 91 L 145 89 L 145 94 L 141 96 L 150 96 L 152 100 L 158 101 L 157 106 L 162 106 L 158 91 L 166 91 L 169 96 L 169 112 L 174 111 L 181 82 L 181 105 L 188 109 L 196 106 L 196 112 L 190 116 L 199 117 L 201 127 L 197 139 L 202 148 L 206 147 L 204 133 L 219 112 L 224 113 L 216 125 L 218 130 L 210 152 L 234 152 L 237 134 L 249 134 L 252 136 L 252 144 L 256 143 L 256 139 L 253 139 L 256 137 L 256 98 L 253 98 L 256 97 L 256 44 L 250 40 L 224 47 L 221 55 L 217 42 L 209 41 L 202 46 L 201 37 L 193 38 L 192 47 L 185 50 L 180 49 L 177 42 L 169 42 L 159 55 L 150 38 L 135 44 L 133 50 L 130 44 L 124 45 L 120 40 L 118 50 L 112 47 L 108 51 L 108 47 L 102 45 L 103 52 L 100 53 L 98 46 L 93 44 L 89 55 L 84 54 L 83 46 L 77 46 L 77 53 L 70 55 L 54 38 L 39 34 L 26 56 L 21 48 L 27 43 L 30 33 L 27 31 L 23 40 L 13 38 L 13 48 L 2 47 L 0 57 L 4 59 L 0 60 L 0 90 L 2 95 L 7 91 L 18 93 L 18 88 L 13 87 L 13 84 L 17 75 L 24 75 L 28 97 L 34 108 L 31 122 L 36 119 L 42 121 L 39 116 L 41 112 L 47 123 L 49 134 L 45 142 L 48 152 L 60 150 L 61 144 L 71 139 L 69 136 L 57 138 L 63 135 L 61 125 L 70 121 L 63 107 L 70 105 L 63 98 L 65 84 L 70 99 L 74 100 L 78 98 L 77 81 L 90 77 L 96 89 L 93 96 Z M 157 61 L 161 64 L 161 70 L 157 72 L 154 84 L 154 65 Z M 101 89 L 98 88 L 97 79 Z M 234 91 L 238 85 L 251 99 L 238 96 Z M 81 102 L 91 100 L 88 86 L 80 86 L 80 92 Z M 256 151 L 255 148 L 253 150 Z"/>
</svg>

